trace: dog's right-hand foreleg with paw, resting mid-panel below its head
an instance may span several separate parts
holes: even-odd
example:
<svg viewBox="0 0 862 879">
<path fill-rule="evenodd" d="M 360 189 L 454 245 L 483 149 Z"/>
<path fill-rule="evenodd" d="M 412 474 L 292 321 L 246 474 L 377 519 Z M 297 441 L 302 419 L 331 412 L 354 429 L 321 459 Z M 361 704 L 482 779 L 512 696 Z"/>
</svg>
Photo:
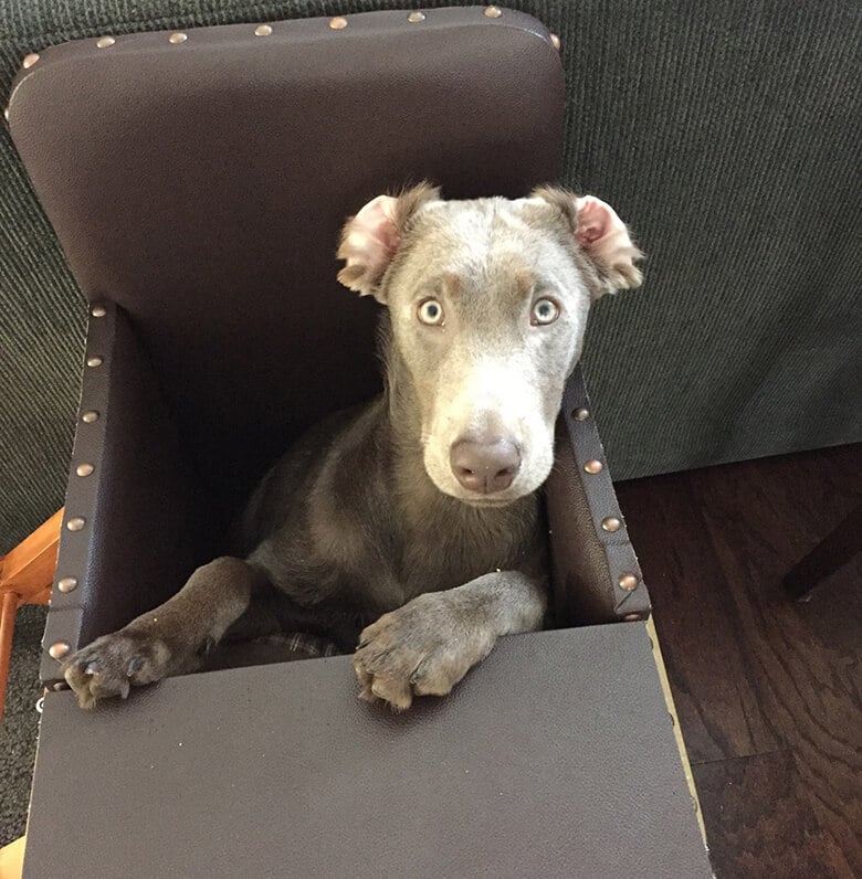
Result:
<svg viewBox="0 0 862 879">
<path fill-rule="evenodd" d="M 403 710 L 413 696 L 444 696 L 501 635 L 542 628 L 547 603 L 547 585 L 517 571 L 419 595 L 359 636 L 354 668 L 361 698 Z"/>
</svg>

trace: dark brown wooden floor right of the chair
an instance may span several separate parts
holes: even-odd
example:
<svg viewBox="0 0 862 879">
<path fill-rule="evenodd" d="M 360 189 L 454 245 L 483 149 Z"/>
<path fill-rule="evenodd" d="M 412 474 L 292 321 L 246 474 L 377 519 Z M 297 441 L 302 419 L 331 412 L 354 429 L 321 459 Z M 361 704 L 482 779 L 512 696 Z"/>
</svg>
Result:
<svg viewBox="0 0 862 879">
<path fill-rule="evenodd" d="M 862 877 L 862 554 L 807 603 L 779 587 L 859 504 L 862 446 L 634 480 L 618 495 L 716 876 Z"/>
</svg>

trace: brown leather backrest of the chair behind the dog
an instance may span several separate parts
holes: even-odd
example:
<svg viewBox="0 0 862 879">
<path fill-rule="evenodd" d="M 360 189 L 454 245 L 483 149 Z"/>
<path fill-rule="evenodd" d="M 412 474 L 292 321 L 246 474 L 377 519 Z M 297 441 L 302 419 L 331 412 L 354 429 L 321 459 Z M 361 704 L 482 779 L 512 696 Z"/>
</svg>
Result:
<svg viewBox="0 0 862 879">
<path fill-rule="evenodd" d="M 54 46 L 9 103 L 81 288 L 130 316 L 220 513 L 380 386 L 376 306 L 335 279 L 345 219 L 411 180 L 523 195 L 560 171 L 563 68 L 535 19 L 272 27 Z"/>
</svg>

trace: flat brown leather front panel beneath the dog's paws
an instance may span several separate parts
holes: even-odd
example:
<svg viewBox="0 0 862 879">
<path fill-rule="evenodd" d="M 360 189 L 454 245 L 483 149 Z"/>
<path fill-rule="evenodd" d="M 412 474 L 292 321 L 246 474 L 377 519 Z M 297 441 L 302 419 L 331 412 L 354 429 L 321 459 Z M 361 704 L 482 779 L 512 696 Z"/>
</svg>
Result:
<svg viewBox="0 0 862 879">
<path fill-rule="evenodd" d="M 503 638 L 403 714 L 349 665 L 49 693 L 24 876 L 709 876 L 642 624 Z"/>
</svg>

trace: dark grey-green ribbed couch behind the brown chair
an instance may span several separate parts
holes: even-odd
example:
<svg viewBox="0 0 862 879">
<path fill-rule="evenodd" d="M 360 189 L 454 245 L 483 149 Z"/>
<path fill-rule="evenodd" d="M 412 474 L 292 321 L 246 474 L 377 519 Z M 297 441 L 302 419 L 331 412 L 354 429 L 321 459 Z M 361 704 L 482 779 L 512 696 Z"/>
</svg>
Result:
<svg viewBox="0 0 862 879">
<path fill-rule="evenodd" d="M 0 92 L 25 54 L 76 38 L 404 6 L 0 0 Z M 641 290 L 595 309 L 584 363 L 617 478 L 862 438 L 859 4 L 509 6 L 561 40 L 565 182 L 614 204 L 650 256 Z M 0 182 L 8 547 L 62 504 L 85 307 L 4 126 Z"/>
</svg>

